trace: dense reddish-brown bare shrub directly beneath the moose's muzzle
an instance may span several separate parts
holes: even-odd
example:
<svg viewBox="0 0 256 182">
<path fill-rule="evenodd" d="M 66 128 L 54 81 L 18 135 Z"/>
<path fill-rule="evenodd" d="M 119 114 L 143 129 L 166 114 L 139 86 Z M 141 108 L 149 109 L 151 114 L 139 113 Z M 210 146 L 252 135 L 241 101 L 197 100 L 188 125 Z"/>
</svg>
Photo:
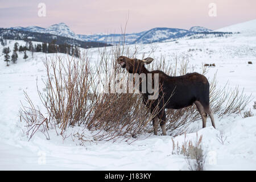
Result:
<svg viewBox="0 0 256 182">
<path fill-rule="evenodd" d="M 113 47 L 110 49 L 112 53 L 106 53 L 106 49 L 99 50 L 101 60 L 97 63 L 97 73 L 104 73 L 108 78 L 106 84 L 110 85 L 111 82 L 119 82 L 118 73 L 123 73 L 123 69 L 117 66 L 115 60 L 119 55 L 126 52 L 130 55 L 129 47 L 123 49 L 121 47 Z M 137 47 L 132 53 L 136 55 Z M 112 75 L 114 73 L 114 75 Z M 125 72 L 126 73 L 126 72 Z M 125 79 L 125 78 L 122 78 Z M 123 82 L 128 89 L 127 80 Z M 110 89 L 110 88 L 109 88 Z M 100 131 L 96 140 L 110 140 L 120 136 L 137 137 L 139 134 L 152 133 L 151 121 L 152 118 L 158 114 L 158 110 L 155 109 L 150 113 L 148 107 L 143 103 L 142 96 L 139 93 L 104 93 L 98 96 L 98 102 L 96 110 L 94 110 L 90 122 L 86 123 L 86 128 L 93 131 Z M 135 91 L 135 90 L 134 90 Z"/>
</svg>

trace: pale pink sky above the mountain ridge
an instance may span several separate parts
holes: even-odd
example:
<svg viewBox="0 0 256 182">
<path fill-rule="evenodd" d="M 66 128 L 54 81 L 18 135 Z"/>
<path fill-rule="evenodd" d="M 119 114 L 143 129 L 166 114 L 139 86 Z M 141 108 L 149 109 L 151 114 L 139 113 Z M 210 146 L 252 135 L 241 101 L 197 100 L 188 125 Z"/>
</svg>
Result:
<svg viewBox="0 0 256 182">
<path fill-rule="evenodd" d="M 38 4 L 46 4 L 46 17 L 38 16 Z M 217 16 L 210 17 L 209 3 Z M 255 0 L 0 0 L 0 27 L 66 23 L 76 34 L 140 32 L 154 27 L 217 29 L 256 19 Z M 129 17 L 129 18 L 128 18 Z"/>
</svg>

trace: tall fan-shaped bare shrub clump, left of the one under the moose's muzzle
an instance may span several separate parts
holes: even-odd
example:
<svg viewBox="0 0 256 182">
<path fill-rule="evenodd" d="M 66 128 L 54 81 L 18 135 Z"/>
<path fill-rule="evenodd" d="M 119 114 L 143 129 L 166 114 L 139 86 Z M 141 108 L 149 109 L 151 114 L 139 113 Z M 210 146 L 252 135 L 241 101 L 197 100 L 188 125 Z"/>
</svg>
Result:
<svg viewBox="0 0 256 182">
<path fill-rule="evenodd" d="M 46 59 L 44 65 L 47 92 L 39 91 L 39 96 L 48 111 L 49 122 L 54 119 L 63 134 L 68 125 L 80 126 L 90 118 L 97 102 L 96 95 L 90 94 L 93 75 L 85 55 L 80 59 L 56 56 L 54 60 Z"/>
</svg>

